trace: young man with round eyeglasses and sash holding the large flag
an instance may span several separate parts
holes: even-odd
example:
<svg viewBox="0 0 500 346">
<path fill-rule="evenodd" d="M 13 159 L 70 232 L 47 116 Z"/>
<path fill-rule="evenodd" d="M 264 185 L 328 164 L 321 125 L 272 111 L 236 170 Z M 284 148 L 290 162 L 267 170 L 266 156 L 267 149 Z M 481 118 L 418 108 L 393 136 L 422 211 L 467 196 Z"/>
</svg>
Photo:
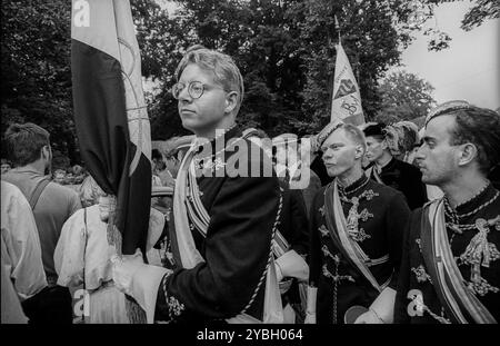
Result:
<svg viewBox="0 0 500 346">
<path fill-rule="evenodd" d="M 236 125 L 241 73 L 230 57 L 193 47 L 176 77 L 179 116 L 196 135 L 176 179 L 169 225 L 176 269 L 136 256 L 117 261 L 114 281 L 148 322 L 282 322 L 271 253 L 280 188 L 271 160 Z M 228 171 L 236 157 L 248 176 Z"/>
</svg>

